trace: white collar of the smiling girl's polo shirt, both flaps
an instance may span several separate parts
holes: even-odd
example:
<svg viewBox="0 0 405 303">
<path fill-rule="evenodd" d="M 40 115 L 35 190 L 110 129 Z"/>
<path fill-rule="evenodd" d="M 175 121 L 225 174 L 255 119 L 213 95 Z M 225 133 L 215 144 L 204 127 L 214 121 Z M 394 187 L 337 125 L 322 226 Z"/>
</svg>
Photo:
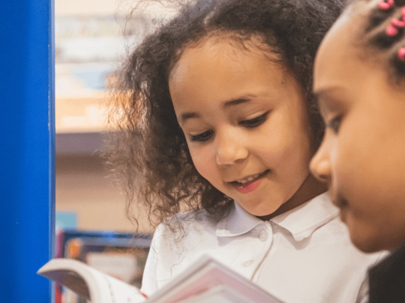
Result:
<svg viewBox="0 0 405 303">
<path fill-rule="evenodd" d="M 288 230 L 296 241 L 309 237 L 315 229 L 337 217 L 335 207 L 328 193 L 322 193 L 306 203 L 272 219 L 280 227 Z M 249 232 L 263 221 L 242 209 L 237 203 L 226 218 L 217 224 L 218 237 L 238 236 Z"/>
</svg>

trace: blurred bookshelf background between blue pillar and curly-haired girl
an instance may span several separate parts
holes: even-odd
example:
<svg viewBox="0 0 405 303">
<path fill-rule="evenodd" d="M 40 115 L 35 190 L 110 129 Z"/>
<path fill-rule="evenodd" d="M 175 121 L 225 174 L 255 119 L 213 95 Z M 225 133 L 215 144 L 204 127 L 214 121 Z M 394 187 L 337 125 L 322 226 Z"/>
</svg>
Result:
<svg viewBox="0 0 405 303">
<path fill-rule="evenodd" d="M 127 0 L 55 0 L 56 257 L 138 287 L 153 230 L 126 218 L 100 149 L 116 71 L 152 20 L 168 14 L 151 3 L 134 10 Z M 54 291 L 55 303 L 86 302 L 60 285 Z"/>
</svg>

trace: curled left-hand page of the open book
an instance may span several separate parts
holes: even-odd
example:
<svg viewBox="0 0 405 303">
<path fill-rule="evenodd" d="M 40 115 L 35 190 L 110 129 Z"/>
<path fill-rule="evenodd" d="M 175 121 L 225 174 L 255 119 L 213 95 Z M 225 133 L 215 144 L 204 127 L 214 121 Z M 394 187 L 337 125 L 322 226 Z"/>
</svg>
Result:
<svg viewBox="0 0 405 303">
<path fill-rule="evenodd" d="M 38 274 L 95 303 L 139 303 L 146 300 L 138 288 L 76 260 L 53 259 L 39 269 Z"/>
</svg>

